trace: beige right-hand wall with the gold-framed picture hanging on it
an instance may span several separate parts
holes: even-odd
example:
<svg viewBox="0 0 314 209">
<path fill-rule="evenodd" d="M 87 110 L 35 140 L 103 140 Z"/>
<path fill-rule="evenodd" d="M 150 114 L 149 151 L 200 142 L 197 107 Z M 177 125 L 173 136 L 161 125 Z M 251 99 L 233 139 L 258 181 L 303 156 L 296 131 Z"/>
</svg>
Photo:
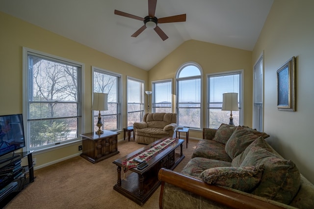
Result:
<svg viewBox="0 0 314 209">
<path fill-rule="evenodd" d="M 264 51 L 264 131 L 314 183 L 314 1 L 275 0 L 253 51 Z M 277 69 L 296 57 L 296 111 L 277 110 Z"/>
</svg>

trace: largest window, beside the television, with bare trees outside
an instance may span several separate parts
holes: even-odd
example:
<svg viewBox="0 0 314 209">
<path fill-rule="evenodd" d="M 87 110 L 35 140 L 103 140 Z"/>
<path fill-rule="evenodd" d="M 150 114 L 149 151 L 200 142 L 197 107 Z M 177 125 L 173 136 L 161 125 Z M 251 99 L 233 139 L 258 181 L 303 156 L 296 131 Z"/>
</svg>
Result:
<svg viewBox="0 0 314 209">
<path fill-rule="evenodd" d="M 27 150 L 78 140 L 82 64 L 23 49 Z"/>
</svg>

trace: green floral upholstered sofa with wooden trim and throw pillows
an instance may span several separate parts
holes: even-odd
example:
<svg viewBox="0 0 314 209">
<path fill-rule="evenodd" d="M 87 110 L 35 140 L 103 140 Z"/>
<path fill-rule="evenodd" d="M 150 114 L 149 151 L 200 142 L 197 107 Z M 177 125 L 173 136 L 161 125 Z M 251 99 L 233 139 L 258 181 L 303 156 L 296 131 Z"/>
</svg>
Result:
<svg viewBox="0 0 314 209">
<path fill-rule="evenodd" d="M 181 172 L 160 169 L 159 208 L 314 208 L 314 185 L 248 127 L 204 129 Z"/>
</svg>

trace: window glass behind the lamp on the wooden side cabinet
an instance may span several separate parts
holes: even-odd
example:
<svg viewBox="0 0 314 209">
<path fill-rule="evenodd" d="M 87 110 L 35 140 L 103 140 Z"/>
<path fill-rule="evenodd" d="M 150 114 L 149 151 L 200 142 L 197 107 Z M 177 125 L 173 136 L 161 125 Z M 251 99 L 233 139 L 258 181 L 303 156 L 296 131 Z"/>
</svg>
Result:
<svg viewBox="0 0 314 209">
<path fill-rule="evenodd" d="M 104 130 L 121 130 L 121 75 L 99 68 L 92 68 L 93 92 L 108 94 L 108 110 L 101 111 Z M 99 111 L 93 111 L 93 128 L 98 121 Z"/>
</svg>

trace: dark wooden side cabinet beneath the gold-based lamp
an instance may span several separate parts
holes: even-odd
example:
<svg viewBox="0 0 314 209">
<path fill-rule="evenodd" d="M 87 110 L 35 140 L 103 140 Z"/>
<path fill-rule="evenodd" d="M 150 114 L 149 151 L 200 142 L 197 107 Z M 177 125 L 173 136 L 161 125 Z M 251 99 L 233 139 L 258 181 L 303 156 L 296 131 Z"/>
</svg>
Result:
<svg viewBox="0 0 314 209">
<path fill-rule="evenodd" d="M 106 130 L 101 135 L 95 132 L 80 134 L 83 140 L 82 154 L 80 156 L 92 163 L 96 163 L 118 154 L 118 134 L 117 132 Z"/>
</svg>

